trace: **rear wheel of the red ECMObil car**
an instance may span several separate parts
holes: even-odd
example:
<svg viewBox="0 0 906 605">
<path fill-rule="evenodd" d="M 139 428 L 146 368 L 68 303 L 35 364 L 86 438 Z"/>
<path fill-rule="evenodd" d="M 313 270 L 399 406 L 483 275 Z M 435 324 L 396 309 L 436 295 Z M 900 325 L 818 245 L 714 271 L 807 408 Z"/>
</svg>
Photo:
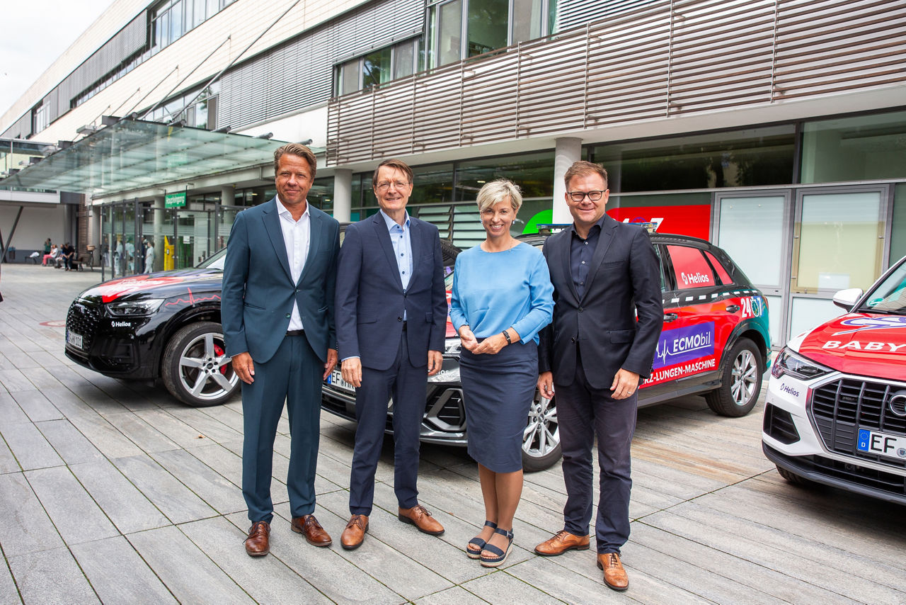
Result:
<svg viewBox="0 0 906 605">
<path fill-rule="evenodd" d="M 757 403 L 765 360 L 748 338 L 739 338 L 725 359 L 720 386 L 705 395 L 705 401 L 716 414 L 737 418 L 747 415 Z"/>
</svg>

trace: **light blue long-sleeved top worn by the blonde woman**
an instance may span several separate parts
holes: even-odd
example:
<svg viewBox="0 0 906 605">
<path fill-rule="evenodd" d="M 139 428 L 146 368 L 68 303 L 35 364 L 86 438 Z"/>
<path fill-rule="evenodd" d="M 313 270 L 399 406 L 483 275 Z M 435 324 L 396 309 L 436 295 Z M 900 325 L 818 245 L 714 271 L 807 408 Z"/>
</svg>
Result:
<svg viewBox="0 0 906 605">
<path fill-rule="evenodd" d="M 545 255 L 525 242 L 503 252 L 467 249 L 456 259 L 450 321 L 468 326 L 477 338 L 506 328 L 523 343 L 538 342 L 538 332 L 554 317 L 554 286 Z"/>
</svg>

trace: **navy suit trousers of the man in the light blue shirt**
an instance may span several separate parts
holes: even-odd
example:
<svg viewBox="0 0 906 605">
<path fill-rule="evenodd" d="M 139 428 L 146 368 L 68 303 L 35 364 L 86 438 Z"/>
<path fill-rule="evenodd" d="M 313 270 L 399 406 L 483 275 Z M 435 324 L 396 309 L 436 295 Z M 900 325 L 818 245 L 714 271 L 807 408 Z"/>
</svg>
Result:
<svg viewBox="0 0 906 605">
<path fill-rule="evenodd" d="M 419 430 L 425 414 L 428 388 L 427 366 L 412 366 L 405 330 L 400 337 L 396 359 L 387 370 L 362 366 L 361 386 L 356 389 L 355 431 L 349 510 L 371 514 L 374 503 L 374 473 L 381 458 L 387 403 L 393 398 L 393 491 L 402 508 L 419 503 Z"/>
</svg>

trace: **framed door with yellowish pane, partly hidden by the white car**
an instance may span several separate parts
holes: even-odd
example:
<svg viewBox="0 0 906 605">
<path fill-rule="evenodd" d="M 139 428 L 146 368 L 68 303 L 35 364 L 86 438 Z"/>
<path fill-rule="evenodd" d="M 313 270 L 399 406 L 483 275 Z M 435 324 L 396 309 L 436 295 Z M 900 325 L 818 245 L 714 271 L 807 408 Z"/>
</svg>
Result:
<svg viewBox="0 0 906 605">
<path fill-rule="evenodd" d="M 836 291 L 867 289 L 881 275 L 887 199 L 886 185 L 797 192 L 790 337 L 840 315 Z"/>
</svg>

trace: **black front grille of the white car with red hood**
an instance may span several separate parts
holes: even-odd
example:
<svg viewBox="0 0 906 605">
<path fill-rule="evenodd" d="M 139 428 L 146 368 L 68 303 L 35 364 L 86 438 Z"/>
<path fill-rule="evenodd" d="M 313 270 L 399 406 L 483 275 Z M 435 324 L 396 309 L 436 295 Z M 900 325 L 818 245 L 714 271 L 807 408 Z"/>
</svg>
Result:
<svg viewBox="0 0 906 605">
<path fill-rule="evenodd" d="M 906 385 L 840 378 L 812 391 L 810 414 L 824 446 L 832 452 L 906 468 L 906 460 L 856 449 L 860 428 L 906 435 L 906 417 L 893 415 L 887 402 Z"/>
</svg>

